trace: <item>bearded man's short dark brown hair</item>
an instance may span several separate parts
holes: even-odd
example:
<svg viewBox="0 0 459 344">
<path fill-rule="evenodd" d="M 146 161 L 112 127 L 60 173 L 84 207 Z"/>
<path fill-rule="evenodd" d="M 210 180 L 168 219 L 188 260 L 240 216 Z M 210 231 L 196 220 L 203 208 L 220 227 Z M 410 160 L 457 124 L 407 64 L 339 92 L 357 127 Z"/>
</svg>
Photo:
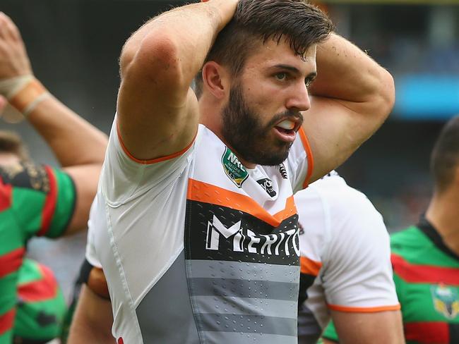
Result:
<svg viewBox="0 0 459 344">
<path fill-rule="evenodd" d="M 257 44 L 285 39 L 295 54 L 304 56 L 312 44 L 323 42 L 333 23 L 321 9 L 306 0 L 240 0 L 232 20 L 218 34 L 205 61 L 228 66 L 239 74 Z M 202 75 L 195 80 L 202 93 Z"/>
</svg>

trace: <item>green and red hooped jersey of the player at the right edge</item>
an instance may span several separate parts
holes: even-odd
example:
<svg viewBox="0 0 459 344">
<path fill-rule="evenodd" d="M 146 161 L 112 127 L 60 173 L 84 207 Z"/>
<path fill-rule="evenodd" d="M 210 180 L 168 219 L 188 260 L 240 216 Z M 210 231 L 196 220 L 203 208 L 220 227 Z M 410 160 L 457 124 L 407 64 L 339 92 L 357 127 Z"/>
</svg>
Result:
<svg viewBox="0 0 459 344">
<path fill-rule="evenodd" d="M 407 344 L 459 343 L 459 256 L 426 219 L 393 234 L 391 250 Z M 330 325 L 323 337 L 338 342 Z"/>
</svg>

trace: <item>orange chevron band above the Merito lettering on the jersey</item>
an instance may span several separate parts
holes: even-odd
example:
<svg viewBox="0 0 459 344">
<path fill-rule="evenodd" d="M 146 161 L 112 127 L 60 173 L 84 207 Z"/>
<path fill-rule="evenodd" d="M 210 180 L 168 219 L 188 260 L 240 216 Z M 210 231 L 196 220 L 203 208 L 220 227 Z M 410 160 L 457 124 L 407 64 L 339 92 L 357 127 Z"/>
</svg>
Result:
<svg viewBox="0 0 459 344">
<path fill-rule="evenodd" d="M 232 192 L 191 178 L 188 181 L 186 198 L 191 201 L 216 204 L 244 211 L 261 221 L 269 223 L 273 227 L 278 227 L 283 220 L 297 214 L 297 207 L 295 207 L 293 196 L 287 198 L 285 209 L 282 209 L 277 214 L 271 215 L 249 196 L 241 195 L 237 192 Z"/>
</svg>

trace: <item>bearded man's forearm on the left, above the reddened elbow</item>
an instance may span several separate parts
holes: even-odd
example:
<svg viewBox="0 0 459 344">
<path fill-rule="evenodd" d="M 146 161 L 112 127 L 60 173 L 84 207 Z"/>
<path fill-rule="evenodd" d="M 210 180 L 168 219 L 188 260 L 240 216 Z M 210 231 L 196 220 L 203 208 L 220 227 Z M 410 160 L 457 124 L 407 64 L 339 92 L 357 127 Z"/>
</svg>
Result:
<svg viewBox="0 0 459 344">
<path fill-rule="evenodd" d="M 231 20 L 237 0 L 210 0 L 190 4 L 153 18 L 143 25 L 124 45 L 121 53 L 121 75 L 132 61 L 146 61 L 148 66 L 161 72 L 161 64 L 148 63 L 157 58 L 158 50 L 169 49 L 167 66 L 178 63 L 181 82 L 188 86 L 202 67 L 218 32 Z M 156 56 L 155 56 L 156 55 Z"/>
</svg>

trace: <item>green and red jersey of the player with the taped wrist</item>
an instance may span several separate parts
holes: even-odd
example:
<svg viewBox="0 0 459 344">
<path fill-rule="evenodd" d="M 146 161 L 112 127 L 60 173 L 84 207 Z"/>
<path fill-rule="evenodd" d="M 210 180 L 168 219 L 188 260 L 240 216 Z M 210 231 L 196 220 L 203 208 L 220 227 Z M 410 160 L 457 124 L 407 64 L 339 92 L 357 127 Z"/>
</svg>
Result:
<svg viewBox="0 0 459 344">
<path fill-rule="evenodd" d="M 0 344 L 13 338 L 27 240 L 62 235 L 75 201 L 73 180 L 63 171 L 30 163 L 0 168 Z"/>
</svg>

